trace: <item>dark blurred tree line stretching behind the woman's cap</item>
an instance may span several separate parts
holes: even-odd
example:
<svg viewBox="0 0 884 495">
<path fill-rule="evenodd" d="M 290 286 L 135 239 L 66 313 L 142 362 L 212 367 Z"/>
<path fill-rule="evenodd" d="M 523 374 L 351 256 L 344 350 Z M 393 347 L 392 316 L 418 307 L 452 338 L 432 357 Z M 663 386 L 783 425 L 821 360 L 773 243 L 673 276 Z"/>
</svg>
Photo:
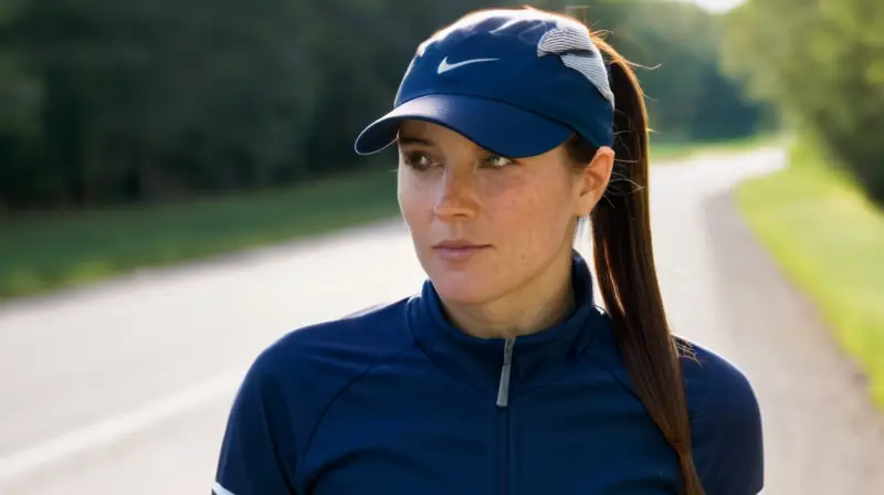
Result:
<svg viewBox="0 0 884 495">
<path fill-rule="evenodd" d="M 766 107 L 719 71 L 724 19 L 665 1 L 579 3 L 640 65 L 659 139 L 745 136 L 762 122 Z M 158 202 L 366 167 L 352 139 L 389 108 L 418 43 L 470 10 L 522 4 L 6 0 L 0 210 Z"/>
</svg>

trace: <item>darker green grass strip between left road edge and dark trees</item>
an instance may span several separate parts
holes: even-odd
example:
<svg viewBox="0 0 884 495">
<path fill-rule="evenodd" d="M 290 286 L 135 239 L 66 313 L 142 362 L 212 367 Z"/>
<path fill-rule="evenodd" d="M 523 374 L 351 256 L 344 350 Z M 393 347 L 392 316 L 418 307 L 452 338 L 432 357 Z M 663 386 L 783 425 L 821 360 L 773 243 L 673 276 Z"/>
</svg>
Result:
<svg viewBox="0 0 884 495">
<path fill-rule="evenodd" d="M 396 173 L 272 192 L 0 221 L 0 298 L 356 225 L 398 212 Z"/>
</svg>

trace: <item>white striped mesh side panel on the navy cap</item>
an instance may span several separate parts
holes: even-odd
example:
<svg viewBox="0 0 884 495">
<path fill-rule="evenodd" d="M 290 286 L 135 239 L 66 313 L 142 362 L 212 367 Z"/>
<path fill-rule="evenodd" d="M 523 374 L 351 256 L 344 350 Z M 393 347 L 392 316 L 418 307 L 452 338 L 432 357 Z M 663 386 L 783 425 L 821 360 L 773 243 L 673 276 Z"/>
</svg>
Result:
<svg viewBox="0 0 884 495">
<path fill-rule="evenodd" d="M 592 52 L 591 54 L 566 53 L 573 50 Z M 554 28 L 546 32 L 537 43 L 537 56 L 558 55 L 567 67 L 583 74 L 606 99 L 614 103 L 608 71 L 604 69 L 601 52 L 582 29 Z"/>
</svg>

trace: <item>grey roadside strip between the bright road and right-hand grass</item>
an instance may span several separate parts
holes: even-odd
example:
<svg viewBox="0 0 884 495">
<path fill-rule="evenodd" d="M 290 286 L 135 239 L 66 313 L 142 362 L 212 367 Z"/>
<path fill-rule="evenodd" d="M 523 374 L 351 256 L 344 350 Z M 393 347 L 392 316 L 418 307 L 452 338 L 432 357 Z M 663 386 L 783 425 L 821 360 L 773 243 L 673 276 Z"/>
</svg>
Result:
<svg viewBox="0 0 884 495">
<path fill-rule="evenodd" d="M 722 326 L 765 421 L 766 494 L 884 494 L 884 413 L 861 369 L 733 208 L 705 202 Z"/>
</svg>

